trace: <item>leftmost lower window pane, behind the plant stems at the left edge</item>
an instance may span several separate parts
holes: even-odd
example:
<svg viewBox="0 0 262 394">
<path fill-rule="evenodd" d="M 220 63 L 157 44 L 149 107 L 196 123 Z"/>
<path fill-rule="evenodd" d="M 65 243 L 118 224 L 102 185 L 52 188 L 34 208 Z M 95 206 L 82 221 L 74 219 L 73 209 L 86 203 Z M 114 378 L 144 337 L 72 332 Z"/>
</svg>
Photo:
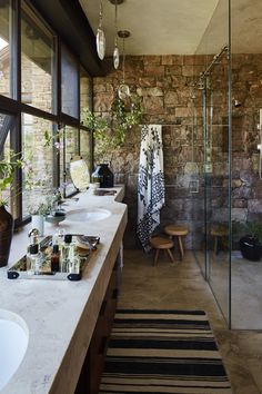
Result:
<svg viewBox="0 0 262 394">
<path fill-rule="evenodd" d="M 10 161 L 16 162 L 18 156 L 14 155 L 14 150 L 11 146 L 11 135 L 14 131 L 14 117 L 0 114 L 0 179 L 7 179 L 6 164 Z M 2 183 L 1 183 L 2 185 Z M 11 193 L 12 190 L 12 193 Z M 0 199 L 4 201 L 8 209 L 11 211 L 13 218 L 17 218 L 16 211 L 16 195 L 19 193 L 18 189 L 13 187 L 13 184 L 7 184 L 7 186 L 0 187 Z"/>
</svg>

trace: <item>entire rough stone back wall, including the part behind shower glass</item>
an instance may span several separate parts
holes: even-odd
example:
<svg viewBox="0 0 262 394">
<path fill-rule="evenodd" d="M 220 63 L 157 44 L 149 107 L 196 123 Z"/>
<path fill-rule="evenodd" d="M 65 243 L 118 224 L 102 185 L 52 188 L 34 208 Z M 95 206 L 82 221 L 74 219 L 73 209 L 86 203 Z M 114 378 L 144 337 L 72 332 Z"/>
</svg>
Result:
<svg viewBox="0 0 262 394">
<path fill-rule="evenodd" d="M 187 224 L 191 232 L 187 238 L 189 248 L 200 247 L 203 240 L 204 181 L 210 185 L 210 220 L 226 223 L 229 217 L 226 60 L 215 66 L 212 75 L 212 136 L 206 136 L 211 140 L 212 171 L 205 180 L 202 92 L 196 90 L 192 98 L 192 83 L 210 59 L 203 56 L 144 56 L 125 59 L 125 82 L 143 100 L 143 124 L 163 125 L 167 198 L 158 232 L 170 221 Z M 93 83 L 94 111 L 102 116 L 110 115 L 117 87 L 122 81 L 122 70 L 115 71 L 111 59 L 105 61 L 109 62 L 107 77 L 95 78 Z M 245 221 L 262 218 L 262 180 L 258 175 L 256 149 L 259 108 L 262 108 L 261 56 L 233 56 L 232 66 L 232 96 L 242 104 L 232 109 L 232 217 Z M 125 184 L 125 203 L 129 207 L 125 247 L 140 247 L 135 235 L 139 150 L 140 129 L 137 127 L 128 132 L 121 148 L 95 157 L 97 162 L 110 161 L 117 181 Z M 198 165 L 196 177 L 192 168 L 191 174 L 188 174 L 191 161 Z M 195 191 L 191 190 L 192 179 L 198 180 L 198 193 L 191 193 Z"/>
</svg>

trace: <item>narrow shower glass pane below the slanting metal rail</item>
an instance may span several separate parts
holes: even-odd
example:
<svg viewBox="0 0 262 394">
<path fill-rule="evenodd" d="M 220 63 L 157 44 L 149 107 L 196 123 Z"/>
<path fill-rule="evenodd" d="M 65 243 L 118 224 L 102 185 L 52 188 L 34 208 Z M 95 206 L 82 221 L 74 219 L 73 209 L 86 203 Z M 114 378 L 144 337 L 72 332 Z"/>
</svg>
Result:
<svg viewBox="0 0 262 394">
<path fill-rule="evenodd" d="M 205 229 L 208 280 L 229 321 L 229 117 L 228 50 L 205 78 Z"/>
</svg>

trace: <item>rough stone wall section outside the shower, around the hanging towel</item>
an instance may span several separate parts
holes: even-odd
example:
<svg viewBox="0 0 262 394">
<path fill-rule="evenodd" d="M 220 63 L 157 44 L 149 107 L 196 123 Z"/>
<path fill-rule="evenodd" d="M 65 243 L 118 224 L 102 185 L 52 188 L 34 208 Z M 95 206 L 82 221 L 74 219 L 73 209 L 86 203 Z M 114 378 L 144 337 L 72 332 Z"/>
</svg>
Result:
<svg viewBox="0 0 262 394">
<path fill-rule="evenodd" d="M 192 225 L 194 219 L 202 220 L 202 211 L 195 205 L 202 205 L 189 193 L 188 185 L 181 185 L 184 165 L 192 157 L 193 109 L 191 86 L 194 76 L 203 69 L 203 58 L 191 56 L 147 56 L 127 57 L 125 82 L 131 92 L 137 92 L 143 102 L 143 124 L 162 124 L 167 203 L 161 211 L 161 228 L 170 221 Z M 109 61 L 109 60 L 108 60 Z M 199 61 L 199 63 L 198 63 Z M 117 87 L 122 81 L 122 70 L 113 70 L 109 65 L 105 78 L 94 78 L 94 111 L 107 116 Z M 195 150 L 203 159 L 201 134 L 200 149 Z M 135 235 L 137 183 L 140 152 L 140 128 L 134 127 L 127 134 L 124 146 L 95 157 L 95 161 L 111 162 L 118 181 L 127 187 L 125 203 L 129 207 L 129 224 L 125 232 L 125 247 L 139 247 Z M 193 213 L 192 213 L 193 210 Z M 161 230 L 159 228 L 158 230 Z M 189 243 L 192 243 L 190 237 Z"/>
</svg>

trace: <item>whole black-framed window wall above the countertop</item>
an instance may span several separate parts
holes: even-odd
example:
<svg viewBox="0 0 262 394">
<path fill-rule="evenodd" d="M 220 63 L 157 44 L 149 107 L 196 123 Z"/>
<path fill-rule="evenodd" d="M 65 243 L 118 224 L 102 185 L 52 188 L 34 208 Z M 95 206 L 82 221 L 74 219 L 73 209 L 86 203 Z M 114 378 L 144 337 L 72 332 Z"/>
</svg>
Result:
<svg viewBox="0 0 262 394">
<path fill-rule="evenodd" d="M 80 119 L 91 99 L 91 78 L 30 0 L 0 0 L 0 160 L 12 151 L 26 160 L 4 189 L 17 226 L 54 188 L 66 185 L 67 197 L 77 191 L 72 157 L 81 154 L 91 171 L 92 134 Z"/>
</svg>

